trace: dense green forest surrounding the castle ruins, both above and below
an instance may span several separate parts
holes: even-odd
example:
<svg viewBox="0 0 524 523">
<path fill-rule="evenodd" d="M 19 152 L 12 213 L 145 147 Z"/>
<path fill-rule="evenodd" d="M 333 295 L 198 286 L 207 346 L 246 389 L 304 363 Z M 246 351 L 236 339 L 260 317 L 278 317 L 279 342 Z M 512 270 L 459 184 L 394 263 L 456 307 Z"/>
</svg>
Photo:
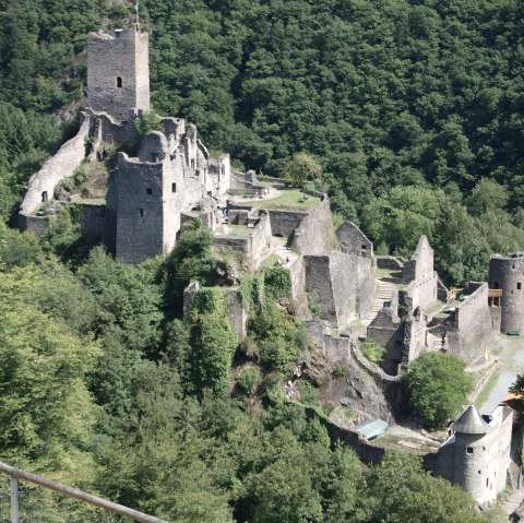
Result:
<svg viewBox="0 0 524 523">
<path fill-rule="evenodd" d="M 308 348 L 282 274 L 246 278 L 237 348 L 219 290 L 180 319 L 183 285 L 221 263 L 198 226 L 140 266 L 87 252 L 67 213 L 39 240 L 9 227 L 74 132 L 87 33 L 132 3 L 0 0 L 0 459 L 174 522 L 488 521 L 416 457 L 365 465 L 282 397 Z M 340 217 L 380 253 L 428 235 L 449 284 L 524 249 L 521 0 L 140 3 L 155 110 L 213 148 L 275 176 L 312 154 Z M 55 502 L 38 521 L 90 521 Z"/>
</svg>

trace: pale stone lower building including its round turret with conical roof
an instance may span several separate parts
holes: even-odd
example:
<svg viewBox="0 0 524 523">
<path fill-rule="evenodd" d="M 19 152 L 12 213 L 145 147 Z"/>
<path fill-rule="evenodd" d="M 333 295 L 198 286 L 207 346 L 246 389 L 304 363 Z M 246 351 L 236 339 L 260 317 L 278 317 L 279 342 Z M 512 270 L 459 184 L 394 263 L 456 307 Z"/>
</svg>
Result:
<svg viewBox="0 0 524 523">
<path fill-rule="evenodd" d="M 451 426 L 450 437 L 437 454 L 436 475 L 471 494 L 478 504 L 496 501 L 511 485 L 513 411 L 499 405 L 481 416 L 474 405 Z"/>
</svg>

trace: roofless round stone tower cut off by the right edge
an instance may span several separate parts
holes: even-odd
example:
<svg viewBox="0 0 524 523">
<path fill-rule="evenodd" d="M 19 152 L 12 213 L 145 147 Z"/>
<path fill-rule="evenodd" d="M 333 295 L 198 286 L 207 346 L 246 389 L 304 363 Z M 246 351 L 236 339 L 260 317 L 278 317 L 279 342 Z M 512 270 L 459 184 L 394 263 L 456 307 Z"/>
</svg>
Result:
<svg viewBox="0 0 524 523">
<path fill-rule="evenodd" d="M 489 262 L 489 288 L 501 289 L 500 332 L 524 330 L 524 252 L 495 254 Z"/>
</svg>

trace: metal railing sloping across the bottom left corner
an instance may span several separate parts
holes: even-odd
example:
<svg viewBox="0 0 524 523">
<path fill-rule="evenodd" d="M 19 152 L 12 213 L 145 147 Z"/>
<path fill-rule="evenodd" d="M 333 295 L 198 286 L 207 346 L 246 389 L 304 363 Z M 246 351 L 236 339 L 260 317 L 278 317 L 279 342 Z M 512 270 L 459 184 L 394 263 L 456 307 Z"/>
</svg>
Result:
<svg viewBox="0 0 524 523">
<path fill-rule="evenodd" d="M 153 515 L 144 514 L 143 512 L 139 512 L 138 510 L 130 509 L 129 507 L 124 507 L 119 503 L 114 503 L 112 501 L 108 501 L 107 499 L 99 498 L 98 496 L 93 496 L 91 494 L 84 492 L 76 488 L 68 487 L 66 485 L 51 482 L 50 479 L 47 479 L 43 476 L 38 476 L 36 474 L 31 474 L 28 472 L 21 471 L 20 468 L 15 468 L 2 462 L 0 462 L 0 473 L 7 474 L 10 477 L 9 497 L 4 497 L 4 499 L 0 498 L 0 523 L 4 523 L 7 521 L 9 521 L 10 523 L 24 523 L 25 521 L 27 522 L 31 521 L 32 523 L 36 521 L 50 521 L 48 518 L 46 518 L 45 520 L 44 519 L 40 520 L 35 516 L 29 516 L 29 519 L 25 519 L 21 516 L 21 508 L 19 507 L 21 488 L 20 488 L 19 480 L 37 485 L 48 491 L 58 492 L 59 495 L 64 496 L 66 498 L 76 499 L 82 501 L 83 503 L 88 503 L 90 506 L 103 509 L 103 511 L 106 511 L 106 513 L 110 512 L 114 514 L 118 514 L 120 516 L 128 518 L 133 521 L 138 521 L 140 523 L 167 523 L 165 520 L 160 520 Z M 9 498 L 9 501 L 5 498 Z M 1 513 L 1 508 L 5 507 L 7 504 L 5 501 L 8 501 L 10 507 L 10 510 L 9 510 L 10 520 L 2 518 L 2 513 Z M 40 503 L 41 503 L 41 499 L 37 498 L 37 500 L 32 503 L 33 506 L 36 506 L 36 509 L 33 509 L 33 510 L 37 510 L 38 508 L 37 506 Z M 72 518 L 68 518 L 67 520 L 63 520 L 63 521 L 72 521 Z M 81 520 L 78 520 L 78 521 L 86 521 L 86 519 L 82 518 Z M 102 521 L 104 521 L 104 523 L 106 522 L 116 523 L 116 520 L 110 520 L 105 518 L 104 520 L 100 518 L 96 518 L 96 519 L 93 519 L 92 521 L 94 522 L 96 521 L 100 523 Z"/>
</svg>

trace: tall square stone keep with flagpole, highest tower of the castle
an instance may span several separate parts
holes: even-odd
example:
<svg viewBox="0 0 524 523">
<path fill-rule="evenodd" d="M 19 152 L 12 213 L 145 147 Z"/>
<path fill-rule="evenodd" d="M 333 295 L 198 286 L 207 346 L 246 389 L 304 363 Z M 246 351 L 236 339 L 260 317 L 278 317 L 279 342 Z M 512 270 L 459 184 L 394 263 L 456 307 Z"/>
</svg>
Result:
<svg viewBox="0 0 524 523">
<path fill-rule="evenodd" d="M 87 38 L 87 103 L 117 120 L 150 109 L 148 34 L 139 25 Z"/>
</svg>

